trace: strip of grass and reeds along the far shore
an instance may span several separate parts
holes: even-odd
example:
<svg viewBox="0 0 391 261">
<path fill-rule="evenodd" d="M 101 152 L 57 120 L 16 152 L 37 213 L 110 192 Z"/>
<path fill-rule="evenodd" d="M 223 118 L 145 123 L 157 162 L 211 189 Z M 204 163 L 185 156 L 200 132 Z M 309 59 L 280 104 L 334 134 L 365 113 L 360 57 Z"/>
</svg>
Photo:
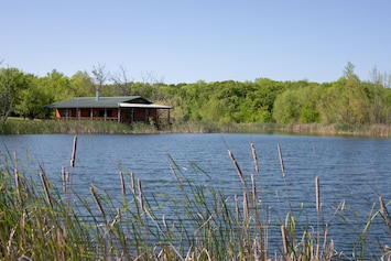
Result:
<svg viewBox="0 0 391 261">
<path fill-rule="evenodd" d="M 347 126 L 347 124 L 276 124 L 276 123 L 217 123 L 186 122 L 163 126 L 122 124 L 109 121 L 54 121 L 20 120 L 11 118 L 0 126 L 0 134 L 50 134 L 50 133 L 287 133 L 311 135 L 351 135 L 391 138 L 391 124 Z"/>
</svg>

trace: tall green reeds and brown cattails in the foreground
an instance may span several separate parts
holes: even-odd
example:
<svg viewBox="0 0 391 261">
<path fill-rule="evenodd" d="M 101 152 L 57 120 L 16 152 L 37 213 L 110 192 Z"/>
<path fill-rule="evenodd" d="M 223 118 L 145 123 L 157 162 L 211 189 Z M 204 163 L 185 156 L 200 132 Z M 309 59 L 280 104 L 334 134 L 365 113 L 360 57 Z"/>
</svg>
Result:
<svg viewBox="0 0 391 261">
<path fill-rule="evenodd" d="M 0 259 L 1 260 L 349 260 L 367 258 L 366 237 L 374 219 L 381 219 L 391 239 L 390 202 L 379 196 L 359 235 L 363 248 L 358 255 L 338 252 L 328 228 L 345 205 L 325 217 L 321 181 L 315 177 L 316 224 L 301 222 L 290 202 L 282 148 L 278 144 L 282 182 L 289 210 L 278 225 L 281 241 L 270 247 L 272 225 L 263 203 L 261 172 L 254 144 L 253 167 L 243 173 L 228 149 L 240 192 L 231 195 L 188 178 L 169 156 L 175 194 L 148 194 L 133 173 L 119 172 L 120 192 L 109 195 L 91 184 L 89 197 L 73 191 L 77 165 L 77 138 L 69 168 L 62 166 L 63 186 L 54 185 L 43 166 L 36 175 L 22 167 L 17 154 L 7 152 L 0 162 Z M 196 165 L 194 172 L 208 175 Z M 302 209 L 301 209 L 302 210 Z M 273 227 L 274 226 L 274 227 Z M 382 246 L 390 260 L 391 249 Z"/>
</svg>

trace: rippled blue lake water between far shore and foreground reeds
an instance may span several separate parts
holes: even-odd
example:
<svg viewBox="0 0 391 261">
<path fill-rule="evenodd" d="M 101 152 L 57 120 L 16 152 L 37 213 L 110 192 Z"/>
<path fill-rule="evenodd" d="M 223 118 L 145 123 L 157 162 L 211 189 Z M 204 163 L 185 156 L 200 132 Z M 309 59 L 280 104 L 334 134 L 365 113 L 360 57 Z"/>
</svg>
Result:
<svg viewBox="0 0 391 261">
<path fill-rule="evenodd" d="M 143 184 L 144 194 L 165 192 L 174 196 L 177 188 L 170 156 L 186 177 L 233 195 L 239 193 L 241 183 L 227 150 L 232 151 L 246 180 L 250 181 L 250 173 L 254 172 L 250 148 L 253 142 L 260 167 L 260 175 L 256 177 L 258 187 L 264 192 L 262 199 L 269 209 L 270 222 L 275 225 L 269 231 L 270 244 L 274 243 L 275 248 L 281 248 L 276 246 L 280 244 L 278 225 L 279 220 L 284 220 L 287 209 L 278 143 L 284 160 L 289 200 L 295 215 L 304 204 L 302 219 L 316 220 L 315 176 L 321 181 L 325 220 L 332 218 L 338 204 L 345 204 L 341 214 L 348 225 L 337 215 L 329 231 L 336 249 L 351 252 L 351 243 L 363 229 L 372 204 L 376 203 L 374 209 L 379 209 L 378 195 L 381 194 L 384 202 L 391 200 L 390 139 L 272 134 L 80 134 L 77 138 L 73 181 L 74 188 L 85 196 L 89 196 L 93 183 L 118 195 L 120 171 L 134 173 Z M 0 135 L 0 154 L 3 157 L 7 150 L 17 152 L 19 159 L 29 161 L 33 171 L 39 172 L 41 164 L 48 178 L 61 184 L 61 167 L 70 168 L 73 139 L 74 135 L 67 134 Z M 193 162 L 207 175 L 195 172 Z M 373 221 L 371 231 L 369 246 L 373 251 L 377 239 L 391 244 L 380 218 Z"/>
</svg>

